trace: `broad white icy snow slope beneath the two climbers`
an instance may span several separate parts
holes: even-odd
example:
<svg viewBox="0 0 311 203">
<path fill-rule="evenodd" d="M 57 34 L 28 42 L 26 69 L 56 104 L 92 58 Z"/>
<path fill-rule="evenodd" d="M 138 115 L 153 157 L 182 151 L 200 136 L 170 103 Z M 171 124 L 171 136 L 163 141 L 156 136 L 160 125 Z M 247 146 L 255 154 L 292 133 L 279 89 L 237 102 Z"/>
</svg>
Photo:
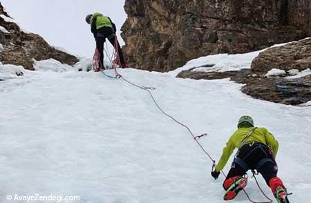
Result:
<svg viewBox="0 0 311 203">
<path fill-rule="evenodd" d="M 223 177 L 211 178 L 208 157 L 146 92 L 100 72 L 38 69 L 0 81 L 0 202 L 15 193 L 79 195 L 88 203 L 223 202 Z M 310 200 L 310 106 L 252 99 L 228 79 L 120 73 L 155 87 L 167 113 L 198 135 L 208 133 L 200 142 L 216 160 L 238 117 L 254 117 L 279 140 L 279 176 L 294 193 L 290 200 Z M 247 192 L 265 201 L 252 179 Z M 248 200 L 241 193 L 232 202 Z"/>
</svg>

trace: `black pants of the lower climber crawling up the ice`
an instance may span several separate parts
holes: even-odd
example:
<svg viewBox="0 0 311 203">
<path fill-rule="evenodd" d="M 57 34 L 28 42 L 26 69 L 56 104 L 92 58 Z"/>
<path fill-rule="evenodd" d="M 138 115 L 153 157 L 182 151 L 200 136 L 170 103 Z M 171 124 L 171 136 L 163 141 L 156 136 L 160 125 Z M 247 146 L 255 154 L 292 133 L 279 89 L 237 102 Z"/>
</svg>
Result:
<svg viewBox="0 0 311 203">
<path fill-rule="evenodd" d="M 261 173 L 267 185 L 270 186 L 269 181 L 272 177 L 276 177 L 278 168 L 272 151 L 267 145 L 258 142 L 244 144 L 238 150 L 226 180 L 237 175 L 243 176 L 249 169 L 256 169 L 258 173 Z"/>
</svg>

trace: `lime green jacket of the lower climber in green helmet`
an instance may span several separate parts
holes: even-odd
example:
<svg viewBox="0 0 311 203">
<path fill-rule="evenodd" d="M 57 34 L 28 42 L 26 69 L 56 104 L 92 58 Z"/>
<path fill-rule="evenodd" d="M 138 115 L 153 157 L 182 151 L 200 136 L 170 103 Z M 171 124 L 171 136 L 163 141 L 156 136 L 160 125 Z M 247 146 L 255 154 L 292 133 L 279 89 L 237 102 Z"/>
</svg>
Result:
<svg viewBox="0 0 311 203">
<path fill-rule="evenodd" d="M 223 155 L 221 155 L 220 160 L 215 168 L 216 171 L 221 171 L 227 164 L 229 157 L 232 155 L 235 148 L 238 148 L 241 145 L 241 142 L 243 142 L 243 139 L 254 128 L 239 128 L 228 140 L 225 148 L 223 148 Z M 250 135 L 244 144 L 250 143 L 250 142 L 260 142 L 263 144 L 267 144 L 267 146 L 270 146 L 272 148 L 272 152 L 274 155 L 274 158 L 276 157 L 276 153 L 279 149 L 279 143 L 277 140 L 273 137 L 273 135 L 267 131 L 266 128 L 256 128 L 254 133 Z M 241 147 L 241 146 L 240 146 Z"/>
</svg>

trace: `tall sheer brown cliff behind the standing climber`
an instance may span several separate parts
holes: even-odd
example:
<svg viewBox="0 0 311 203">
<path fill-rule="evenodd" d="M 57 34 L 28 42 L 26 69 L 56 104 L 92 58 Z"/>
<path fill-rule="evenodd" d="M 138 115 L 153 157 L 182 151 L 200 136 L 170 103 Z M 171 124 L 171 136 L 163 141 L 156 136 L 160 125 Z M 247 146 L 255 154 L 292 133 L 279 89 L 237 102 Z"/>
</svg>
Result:
<svg viewBox="0 0 311 203">
<path fill-rule="evenodd" d="M 147 70 L 173 70 L 200 56 L 250 52 L 311 34 L 310 0 L 126 0 L 124 8 L 126 60 Z"/>
</svg>

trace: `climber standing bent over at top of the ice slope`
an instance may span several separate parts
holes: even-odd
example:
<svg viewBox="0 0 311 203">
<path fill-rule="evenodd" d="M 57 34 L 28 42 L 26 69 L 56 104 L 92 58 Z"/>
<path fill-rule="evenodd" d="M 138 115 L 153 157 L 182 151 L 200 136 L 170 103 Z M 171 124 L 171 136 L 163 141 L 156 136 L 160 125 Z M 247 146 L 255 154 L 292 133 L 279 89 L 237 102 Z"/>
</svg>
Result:
<svg viewBox="0 0 311 203">
<path fill-rule="evenodd" d="M 108 39 L 115 46 L 115 23 L 111 21 L 110 17 L 106 17 L 99 12 L 86 15 L 86 23 L 91 25 L 91 32 L 96 41 L 96 48 L 100 52 L 100 68 L 104 68 L 104 42 Z M 119 42 L 117 42 L 116 49 L 119 53 L 121 68 L 126 68 Z"/>
</svg>

